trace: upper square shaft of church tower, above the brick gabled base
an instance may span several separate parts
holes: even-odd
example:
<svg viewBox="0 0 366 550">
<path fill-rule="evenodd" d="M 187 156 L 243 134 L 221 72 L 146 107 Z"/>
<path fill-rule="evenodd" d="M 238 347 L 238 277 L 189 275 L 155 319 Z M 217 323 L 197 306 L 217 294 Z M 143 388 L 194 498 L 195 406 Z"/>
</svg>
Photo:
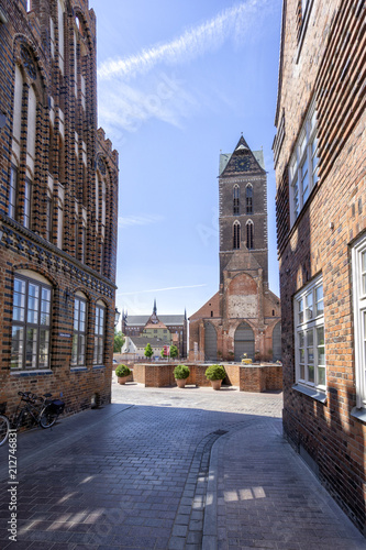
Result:
<svg viewBox="0 0 366 550">
<path fill-rule="evenodd" d="M 241 136 L 234 152 L 220 155 L 220 284 L 223 272 L 263 270 L 268 283 L 267 175 L 263 151 Z"/>
</svg>

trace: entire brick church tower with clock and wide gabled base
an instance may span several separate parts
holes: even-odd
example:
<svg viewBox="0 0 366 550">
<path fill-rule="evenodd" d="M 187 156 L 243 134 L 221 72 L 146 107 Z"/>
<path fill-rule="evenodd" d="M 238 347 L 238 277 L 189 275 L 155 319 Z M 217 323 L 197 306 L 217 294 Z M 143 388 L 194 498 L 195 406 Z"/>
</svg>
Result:
<svg viewBox="0 0 366 550">
<path fill-rule="evenodd" d="M 220 289 L 189 318 L 192 361 L 280 359 L 279 298 L 268 287 L 267 176 L 241 136 L 220 155 Z"/>
</svg>

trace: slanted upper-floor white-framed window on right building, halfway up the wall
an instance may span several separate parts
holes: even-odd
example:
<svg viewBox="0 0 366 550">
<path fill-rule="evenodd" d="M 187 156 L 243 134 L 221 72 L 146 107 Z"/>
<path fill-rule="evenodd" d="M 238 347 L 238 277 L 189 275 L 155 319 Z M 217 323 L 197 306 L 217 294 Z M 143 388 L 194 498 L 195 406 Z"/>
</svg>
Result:
<svg viewBox="0 0 366 550">
<path fill-rule="evenodd" d="M 289 182 L 291 226 L 295 223 L 312 188 L 319 180 L 318 165 L 317 110 L 315 102 L 313 101 L 290 158 Z"/>
</svg>

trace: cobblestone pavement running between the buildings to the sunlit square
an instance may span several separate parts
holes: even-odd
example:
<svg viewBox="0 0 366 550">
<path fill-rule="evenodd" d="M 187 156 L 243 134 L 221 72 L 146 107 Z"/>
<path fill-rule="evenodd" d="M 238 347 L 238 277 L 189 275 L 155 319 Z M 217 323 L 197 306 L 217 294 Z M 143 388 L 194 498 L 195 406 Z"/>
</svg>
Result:
<svg viewBox="0 0 366 550">
<path fill-rule="evenodd" d="M 366 549 L 281 438 L 281 395 L 113 383 L 113 403 L 18 438 L 0 549 Z"/>
</svg>

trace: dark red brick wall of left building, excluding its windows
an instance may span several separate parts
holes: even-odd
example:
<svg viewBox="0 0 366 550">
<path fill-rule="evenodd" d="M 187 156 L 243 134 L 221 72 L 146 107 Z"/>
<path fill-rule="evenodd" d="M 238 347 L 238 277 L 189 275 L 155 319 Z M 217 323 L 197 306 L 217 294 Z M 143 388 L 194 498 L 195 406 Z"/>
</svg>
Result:
<svg viewBox="0 0 366 550">
<path fill-rule="evenodd" d="M 91 396 L 98 393 L 101 403 L 111 398 L 112 350 L 114 334 L 115 254 L 118 224 L 118 153 L 97 131 L 97 58 L 96 19 L 87 0 L 71 0 L 65 13 L 65 70 L 58 63 L 57 2 L 33 0 L 32 12 L 26 13 L 26 2 L 3 0 L 1 9 L 8 19 L 0 24 L 0 108 L 7 124 L 0 130 L 0 402 L 8 402 L 8 411 L 14 410 L 18 391 L 37 394 L 52 393 L 66 402 L 66 413 L 90 406 Z M 76 11 L 74 12 L 74 8 Z M 74 24 L 75 14 L 84 25 L 84 41 L 88 56 L 86 107 L 80 94 L 74 92 Z M 55 57 L 51 55 L 49 18 L 55 24 Z M 34 75 L 22 58 L 22 48 L 29 52 Z M 14 111 L 14 68 L 23 72 L 25 88 L 34 86 L 37 96 L 36 158 L 33 173 L 32 213 L 30 229 L 23 227 L 22 185 L 26 173 L 26 138 L 21 139 L 19 162 L 19 216 L 8 217 L 9 184 Z M 51 102 L 51 98 L 53 103 Z M 23 101 L 23 106 L 26 102 Z M 54 107 L 52 121 L 51 105 Z M 59 154 L 60 114 L 65 117 L 65 150 Z M 23 113 L 24 114 L 24 113 Z M 24 116 L 23 116 L 24 120 Z M 26 118 L 25 118 L 26 120 Z M 52 132 L 49 128 L 52 127 Z M 78 141 L 76 142 L 76 133 Z M 24 128 L 23 128 L 23 134 Z M 23 135 L 22 134 L 22 135 Z M 81 143 L 87 146 L 86 176 L 81 173 Z M 76 154 L 76 148 L 79 155 Z M 107 216 L 104 255 L 100 254 L 101 224 L 96 223 L 96 173 L 106 168 Z M 48 176 L 53 185 L 52 238 L 48 241 L 46 198 Z M 57 248 L 58 190 L 65 189 L 63 250 Z M 82 193 L 81 193 L 82 190 Z M 99 190 L 101 205 L 101 189 Z M 80 246 L 76 246 L 76 210 L 81 222 L 81 205 L 87 212 L 86 258 L 81 263 Z M 100 213 L 100 212 L 99 212 Z M 79 231 L 80 235 L 80 231 Z M 18 270 L 36 272 L 52 286 L 52 334 L 49 373 L 14 373 L 10 371 L 13 280 Z M 70 369 L 74 298 L 76 292 L 87 297 L 86 370 Z M 96 302 L 106 306 L 106 346 L 103 365 L 93 366 Z M 26 375 L 25 375 L 26 374 Z"/>
</svg>

